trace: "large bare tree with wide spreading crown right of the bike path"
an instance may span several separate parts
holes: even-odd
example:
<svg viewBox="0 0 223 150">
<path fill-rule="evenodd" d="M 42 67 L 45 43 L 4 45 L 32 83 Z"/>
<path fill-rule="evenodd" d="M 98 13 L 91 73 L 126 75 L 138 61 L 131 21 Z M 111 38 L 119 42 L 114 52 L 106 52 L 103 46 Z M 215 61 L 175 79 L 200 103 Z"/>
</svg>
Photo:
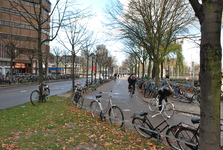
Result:
<svg viewBox="0 0 223 150">
<path fill-rule="evenodd" d="M 146 49 L 154 62 L 157 86 L 158 68 L 169 53 L 167 47 L 194 21 L 188 5 L 182 0 L 130 0 L 125 6 L 112 1 L 106 8 L 113 29 L 119 31 L 118 39 L 131 40 Z"/>
</svg>

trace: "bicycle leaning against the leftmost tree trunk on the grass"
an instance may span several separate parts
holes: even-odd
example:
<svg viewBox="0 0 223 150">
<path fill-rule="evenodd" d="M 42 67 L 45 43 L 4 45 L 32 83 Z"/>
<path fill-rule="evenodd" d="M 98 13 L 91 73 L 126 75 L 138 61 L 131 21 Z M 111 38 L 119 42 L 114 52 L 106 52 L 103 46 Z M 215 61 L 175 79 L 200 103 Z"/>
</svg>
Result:
<svg viewBox="0 0 223 150">
<path fill-rule="evenodd" d="M 30 101 L 31 103 L 36 106 L 43 102 L 43 99 L 45 101 L 49 101 L 50 99 L 50 87 L 47 84 L 43 84 L 43 93 L 40 95 L 40 88 L 41 86 L 38 85 L 39 90 L 35 90 L 30 95 Z"/>
</svg>

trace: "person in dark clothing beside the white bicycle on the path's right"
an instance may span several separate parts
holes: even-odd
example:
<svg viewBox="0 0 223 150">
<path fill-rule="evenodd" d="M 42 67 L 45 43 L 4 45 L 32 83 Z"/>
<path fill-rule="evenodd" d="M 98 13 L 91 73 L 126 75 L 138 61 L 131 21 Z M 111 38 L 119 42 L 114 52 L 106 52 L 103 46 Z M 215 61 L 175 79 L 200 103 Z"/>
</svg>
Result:
<svg viewBox="0 0 223 150">
<path fill-rule="evenodd" d="M 165 101 L 167 102 L 167 96 L 171 95 L 169 86 L 175 86 L 175 84 L 169 80 L 169 75 L 166 75 L 166 78 L 163 79 L 158 86 L 158 93 L 160 95 L 159 105 L 161 106 L 162 106 L 163 99 L 165 99 Z M 161 109 L 162 107 L 159 107 L 159 111 L 161 111 Z"/>
</svg>

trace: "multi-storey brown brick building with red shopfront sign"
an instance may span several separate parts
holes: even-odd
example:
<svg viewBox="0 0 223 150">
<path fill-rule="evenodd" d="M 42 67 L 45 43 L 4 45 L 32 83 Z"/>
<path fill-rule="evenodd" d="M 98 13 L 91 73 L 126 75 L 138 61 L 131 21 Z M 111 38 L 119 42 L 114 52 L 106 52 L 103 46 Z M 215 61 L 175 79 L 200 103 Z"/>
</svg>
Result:
<svg viewBox="0 0 223 150">
<path fill-rule="evenodd" d="M 11 4 L 11 3 L 12 4 Z M 28 20 L 35 22 L 30 15 L 35 17 L 35 12 L 39 8 L 43 8 L 42 17 L 47 18 L 51 11 L 51 3 L 49 0 L 0 0 L 0 74 L 5 75 L 10 72 L 11 56 L 16 56 L 13 60 L 13 68 L 16 73 L 36 73 L 37 71 L 37 30 L 35 30 L 22 15 L 12 7 L 13 4 L 20 3 L 18 6 L 22 15 Z M 25 12 L 24 9 L 28 11 Z M 35 24 L 37 25 L 37 24 Z M 43 24 L 42 39 L 49 38 L 50 20 Z M 9 53 L 10 48 L 13 55 Z M 42 45 L 42 52 L 49 52 L 49 43 Z M 35 54 L 35 56 L 34 56 Z M 31 59 L 32 58 L 32 64 Z M 31 65 L 33 70 L 31 70 Z"/>
</svg>

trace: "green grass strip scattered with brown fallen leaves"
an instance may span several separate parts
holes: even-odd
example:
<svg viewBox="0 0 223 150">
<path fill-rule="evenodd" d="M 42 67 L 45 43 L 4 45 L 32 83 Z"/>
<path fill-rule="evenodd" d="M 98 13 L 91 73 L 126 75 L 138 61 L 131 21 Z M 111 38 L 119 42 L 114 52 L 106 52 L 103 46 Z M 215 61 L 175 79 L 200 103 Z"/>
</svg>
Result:
<svg viewBox="0 0 223 150">
<path fill-rule="evenodd" d="M 134 131 L 124 132 L 93 118 L 66 97 L 51 96 L 38 106 L 28 102 L 3 109 L 0 116 L 0 150 L 167 149 Z"/>
</svg>

